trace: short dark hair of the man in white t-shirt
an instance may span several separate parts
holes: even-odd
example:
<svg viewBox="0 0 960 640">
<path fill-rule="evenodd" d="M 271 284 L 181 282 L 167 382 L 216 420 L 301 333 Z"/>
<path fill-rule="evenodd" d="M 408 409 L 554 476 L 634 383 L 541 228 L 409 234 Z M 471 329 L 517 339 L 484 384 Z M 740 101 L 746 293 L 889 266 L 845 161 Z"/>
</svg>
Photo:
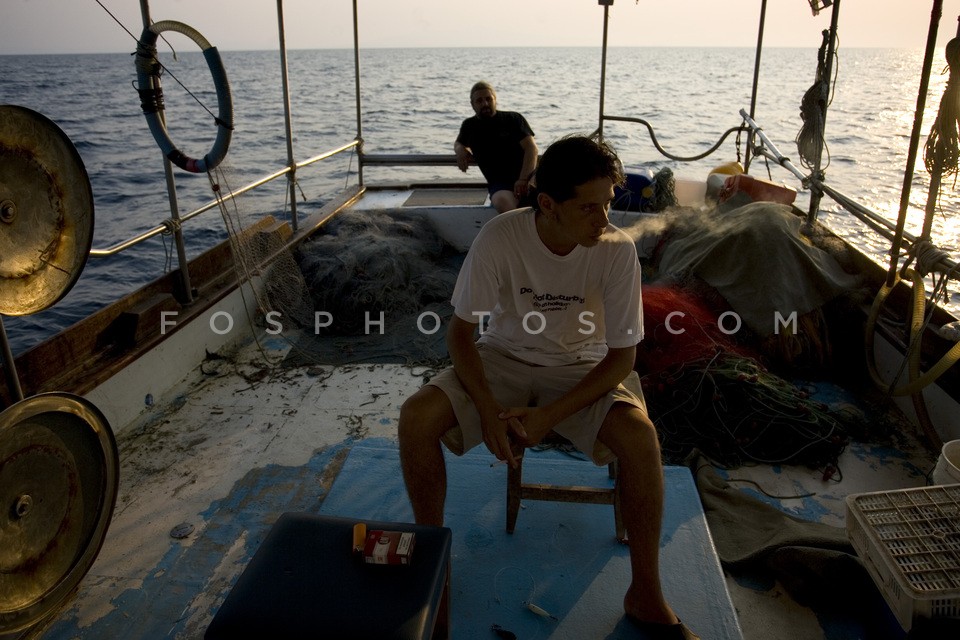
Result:
<svg viewBox="0 0 960 640">
<path fill-rule="evenodd" d="M 597 178 L 610 178 L 615 186 L 623 186 L 623 163 L 605 142 L 572 135 L 544 151 L 537 165 L 536 187 L 537 192 L 564 202 L 576 195 L 577 187 Z"/>
</svg>

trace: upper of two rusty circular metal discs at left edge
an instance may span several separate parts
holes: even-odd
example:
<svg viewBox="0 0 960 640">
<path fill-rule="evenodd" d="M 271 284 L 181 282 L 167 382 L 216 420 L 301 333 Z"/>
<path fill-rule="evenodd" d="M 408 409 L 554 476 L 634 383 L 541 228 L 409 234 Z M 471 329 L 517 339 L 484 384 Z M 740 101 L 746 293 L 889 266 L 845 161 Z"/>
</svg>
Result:
<svg viewBox="0 0 960 640">
<path fill-rule="evenodd" d="M 54 122 L 0 105 L 0 313 L 62 298 L 93 241 L 93 192 L 80 154 Z"/>
</svg>

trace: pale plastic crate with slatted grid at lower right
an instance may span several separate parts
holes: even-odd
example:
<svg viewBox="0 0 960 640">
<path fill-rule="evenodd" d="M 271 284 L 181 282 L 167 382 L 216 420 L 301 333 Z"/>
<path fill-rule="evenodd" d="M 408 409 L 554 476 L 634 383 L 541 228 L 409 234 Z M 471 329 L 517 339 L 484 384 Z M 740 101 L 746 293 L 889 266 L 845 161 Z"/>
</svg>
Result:
<svg viewBox="0 0 960 640">
<path fill-rule="evenodd" d="M 905 631 L 960 617 L 960 484 L 848 496 L 847 534 Z"/>
</svg>

